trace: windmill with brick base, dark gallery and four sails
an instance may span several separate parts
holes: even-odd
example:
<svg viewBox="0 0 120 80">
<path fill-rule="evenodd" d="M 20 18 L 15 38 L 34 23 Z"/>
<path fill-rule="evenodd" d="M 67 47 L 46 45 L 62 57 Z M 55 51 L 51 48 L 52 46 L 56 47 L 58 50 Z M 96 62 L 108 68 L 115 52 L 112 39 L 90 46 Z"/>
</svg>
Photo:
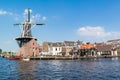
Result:
<svg viewBox="0 0 120 80">
<path fill-rule="evenodd" d="M 37 39 L 32 37 L 31 27 L 36 25 L 44 25 L 42 23 L 31 23 L 30 21 L 30 9 L 27 9 L 26 13 L 26 21 L 23 23 L 18 23 L 14 25 L 18 25 L 22 27 L 22 33 L 20 37 L 15 38 L 19 45 L 18 55 L 21 57 L 35 57 L 39 55 L 40 47 L 37 43 Z"/>
</svg>

